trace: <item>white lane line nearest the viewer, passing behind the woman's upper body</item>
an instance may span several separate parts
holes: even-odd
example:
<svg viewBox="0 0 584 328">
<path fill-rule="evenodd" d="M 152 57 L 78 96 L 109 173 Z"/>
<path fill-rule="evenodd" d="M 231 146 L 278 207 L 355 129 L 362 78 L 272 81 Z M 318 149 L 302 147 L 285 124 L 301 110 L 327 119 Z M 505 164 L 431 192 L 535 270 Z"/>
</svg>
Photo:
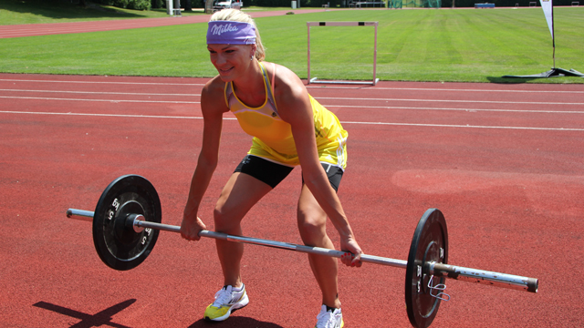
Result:
<svg viewBox="0 0 584 328">
<path fill-rule="evenodd" d="M 162 115 L 129 115 L 129 114 L 89 114 L 89 113 L 56 113 L 56 112 L 27 112 L 14 110 L 0 110 L 4 114 L 27 114 L 27 115 L 63 115 L 63 116 L 85 116 L 85 117 L 111 117 L 111 118 L 174 118 L 174 119 L 203 119 L 203 117 L 176 117 Z M 225 120 L 236 120 L 237 118 L 224 118 Z M 341 124 L 360 125 L 386 125 L 401 127 L 426 127 L 426 128 L 497 128 L 497 129 L 522 129 L 522 130 L 547 130 L 547 131 L 584 131 L 584 128 L 534 128 L 534 127 L 495 127 L 495 126 L 471 126 L 454 124 L 422 124 L 422 123 L 391 123 L 391 122 L 355 122 L 340 121 Z"/>
</svg>

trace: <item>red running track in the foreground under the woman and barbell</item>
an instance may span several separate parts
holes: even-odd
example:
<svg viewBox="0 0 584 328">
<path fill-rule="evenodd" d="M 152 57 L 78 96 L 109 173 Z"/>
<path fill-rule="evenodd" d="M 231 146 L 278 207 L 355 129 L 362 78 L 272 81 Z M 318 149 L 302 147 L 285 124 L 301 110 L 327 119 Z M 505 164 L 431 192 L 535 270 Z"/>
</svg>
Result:
<svg viewBox="0 0 584 328">
<path fill-rule="evenodd" d="M 310 327 L 319 292 L 305 254 L 245 246 L 251 302 L 204 323 L 221 287 L 214 241 L 161 232 L 130 272 L 105 266 L 93 210 L 123 174 L 150 179 L 180 224 L 203 122 L 205 80 L 0 75 L 0 326 Z M 448 281 L 433 327 L 579 327 L 584 86 L 381 82 L 308 86 L 349 131 L 339 197 L 364 251 L 405 260 L 417 221 L 443 210 L 450 262 L 538 278 L 537 294 Z M 214 201 L 250 138 L 227 115 Z M 299 170 L 252 210 L 245 235 L 299 243 Z M 337 243 L 336 231 L 329 228 Z M 408 327 L 405 271 L 341 268 L 346 327 Z"/>
</svg>

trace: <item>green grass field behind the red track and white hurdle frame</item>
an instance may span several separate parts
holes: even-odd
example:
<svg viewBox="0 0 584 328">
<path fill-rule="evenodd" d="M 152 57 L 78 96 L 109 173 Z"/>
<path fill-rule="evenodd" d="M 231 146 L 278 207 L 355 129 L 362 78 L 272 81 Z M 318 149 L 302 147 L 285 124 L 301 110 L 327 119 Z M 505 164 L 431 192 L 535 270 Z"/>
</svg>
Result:
<svg viewBox="0 0 584 328">
<path fill-rule="evenodd" d="M 258 18 L 267 61 L 306 78 L 307 21 L 378 21 L 381 80 L 517 82 L 552 67 L 541 8 L 343 10 Z M 584 7 L 555 8 L 556 66 L 584 72 Z M 212 77 L 205 24 L 0 39 L 0 72 Z M 372 27 L 313 27 L 311 76 L 370 79 Z M 584 83 L 581 77 L 534 79 Z M 524 82 L 524 80 L 520 80 Z"/>
</svg>

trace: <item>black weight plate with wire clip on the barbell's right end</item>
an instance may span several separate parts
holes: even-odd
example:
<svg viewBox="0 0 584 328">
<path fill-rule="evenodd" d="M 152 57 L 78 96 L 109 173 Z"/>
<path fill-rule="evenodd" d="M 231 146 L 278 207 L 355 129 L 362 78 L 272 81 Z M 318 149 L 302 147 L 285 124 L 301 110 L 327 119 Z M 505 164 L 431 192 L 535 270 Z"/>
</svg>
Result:
<svg viewBox="0 0 584 328">
<path fill-rule="evenodd" d="M 427 273 L 425 263 L 428 261 L 446 263 L 447 260 L 446 220 L 440 210 L 426 210 L 413 233 L 405 272 L 405 303 L 412 326 L 419 328 L 430 326 L 440 305 L 440 300 L 430 294 L 428 288 L 430 275 Z M 433 285 L 443 282 L 444 278 L 440 281 L 434 279 Z"/>
</svg>

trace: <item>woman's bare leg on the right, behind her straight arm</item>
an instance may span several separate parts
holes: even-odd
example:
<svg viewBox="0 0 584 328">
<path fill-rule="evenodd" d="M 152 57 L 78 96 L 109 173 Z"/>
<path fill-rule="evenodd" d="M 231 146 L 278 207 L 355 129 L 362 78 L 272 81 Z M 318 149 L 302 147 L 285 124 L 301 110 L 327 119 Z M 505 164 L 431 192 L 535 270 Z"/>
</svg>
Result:
<svg viewBox="0 0 584 328">
<path fill-rule="evenodd" d="M 297 220 L 298 230 L 305 245 L 327 249 L 335 248 L 327 235 L 327 214 L 320 208 L 306 185 L 302 186 L 300 192 Z M 322 303 L 332 308 L 340 308 L 337 259 L 324 255 L 308 254 L 308 261 L 322 292 Z"/>
</svg>

